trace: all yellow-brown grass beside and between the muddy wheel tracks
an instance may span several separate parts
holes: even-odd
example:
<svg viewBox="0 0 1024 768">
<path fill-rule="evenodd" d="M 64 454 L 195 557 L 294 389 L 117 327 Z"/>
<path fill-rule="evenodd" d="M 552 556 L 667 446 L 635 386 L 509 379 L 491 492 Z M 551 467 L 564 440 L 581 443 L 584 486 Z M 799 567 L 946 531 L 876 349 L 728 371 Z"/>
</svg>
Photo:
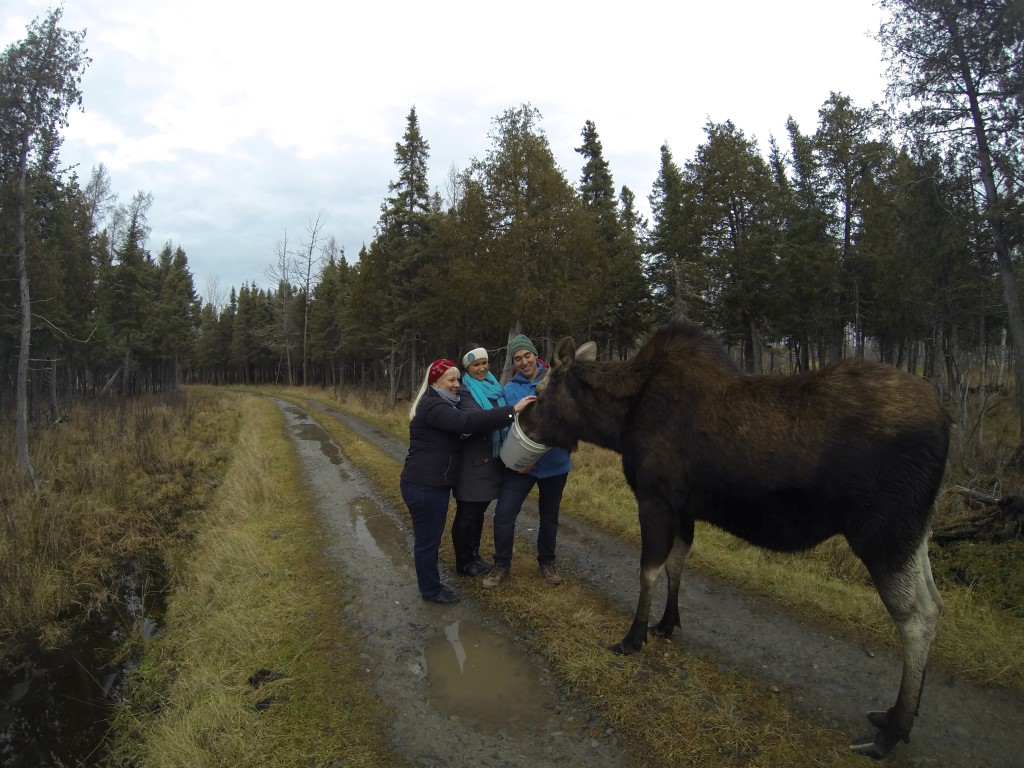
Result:
<svg viewBox="0 0 1024 768">
<path fill-rule="evenodd" d="M 143 662 L 116 723 L 114 764 L 399 766 L 382 743 L 386 710 L 345 654 L 333 652 L 354 642 L 357 628 L 344 626 L 343 585 L 321 558 L 321 531 L 282 417 L 252 394 L 194 388 L 84 406 L 34 444 L 42 493 L 20 482 L 12 451 L 0 460 L 5 659 L 15 660 L 29 639 L 66 642 L 76 622 L 111 603 L 123 563 L 156 557 L 169 584 L 165 626 L 157 640 L 129 634 L 129 649 L 142 651 Z M 389 411 L 374 397 L 273 394 L 317 399 L 407 437 L 404 409 Z M 399 463 L 313 415 L 382 498 L 400 507 Z M 617 457 L 583 445 L 573 463 L 565 510 L 636 542 L 635 504 Z M 935 658 L 1018 690 L 1024 617 L 1006 582 L 1024 570 L 1021 554 L 1016 545 L 979 545 L 933 557 L 946 601 Z M 701 526 L 690 566 L 837 632 L 895 645 L 891 622 L 842 543 L 783 557 Z M 667 766 L 863 765 L 847 753 L 845 734 L 807 723 L 771 686 L 714 659 L 660 644 L 624 664 L 593 638 L 614 637 L 628 616 L 571 580 L 563 587 L 524 580 L 516 590 L 467 591 L 600 709 L 631 754 L 659 754 Z M 357 706 L 338 708 L 338 690 Z"/>
</svg>

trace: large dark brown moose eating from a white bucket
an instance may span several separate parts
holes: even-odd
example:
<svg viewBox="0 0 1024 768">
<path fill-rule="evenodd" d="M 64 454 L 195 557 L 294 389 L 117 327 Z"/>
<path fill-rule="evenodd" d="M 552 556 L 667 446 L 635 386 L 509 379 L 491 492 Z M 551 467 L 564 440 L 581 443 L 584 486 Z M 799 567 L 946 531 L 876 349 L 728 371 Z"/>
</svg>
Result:
<svg viewBox="0 0 1024 768">
<path fill-rule="evenodd" d="M 679 627 L 679 584 L 696 520 L 776 552 L 841 535 L 867 567 L 899 632 L 896 703 L 870 712 L 873 736 L 851 749 L 881 759 L 909 741 L 942 598 L 928 532 L 945 470 L 950 418 L 934 385 L 882 362 L 844 359 L 798 374 L 745 374 L 702 327 L 677 323 L 630 359 L 598 361 L 588 342 L 555 348 L 534 439 L 586 440 L 622 455 L 640 519 L 640 597 L 629 632 L 646 641 L 660 568 L 668 601 L 651 634 Z"/>
</svg>

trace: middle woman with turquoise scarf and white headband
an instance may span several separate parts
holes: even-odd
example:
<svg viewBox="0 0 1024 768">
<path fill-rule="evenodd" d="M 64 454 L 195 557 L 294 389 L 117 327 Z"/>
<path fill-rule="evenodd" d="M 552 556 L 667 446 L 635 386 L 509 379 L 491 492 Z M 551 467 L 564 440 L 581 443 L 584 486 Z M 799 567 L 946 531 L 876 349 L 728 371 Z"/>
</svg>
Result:
<svg viewBox="0 0 1024 768">
<path fill-rule="evenodd" d="M 489 411 L 506 404 L 501 384 L 489 371 L 487 350 L 473 344 L 462 357 L 466 375 L 460 388 L 460 410 Z M 480 536 L 487 505 L 498 498 L 503 464 L 498 458 L 508 427 L 466 435 L 462 445 L 462 467 L 455 487 L 456 513 L 452 522 L 456 571 L 478 577 L 490 570 L 480 557 Z"/>
</svg>

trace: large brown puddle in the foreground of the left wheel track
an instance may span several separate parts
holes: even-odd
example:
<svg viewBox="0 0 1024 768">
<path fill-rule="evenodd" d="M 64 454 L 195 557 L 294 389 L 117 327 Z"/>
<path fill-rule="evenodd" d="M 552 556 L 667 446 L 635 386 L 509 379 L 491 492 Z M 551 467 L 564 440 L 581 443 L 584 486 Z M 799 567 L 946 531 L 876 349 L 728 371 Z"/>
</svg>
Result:
<svg viewBox="0 0 1024 768">
<path fill-rule="evenodd" d="M 507 638 L 478 624 L 455 622 L 424 649 L 430 700 L 486 732 L 540 727 L 552 698 L 537 668 Z"/>
</svg>

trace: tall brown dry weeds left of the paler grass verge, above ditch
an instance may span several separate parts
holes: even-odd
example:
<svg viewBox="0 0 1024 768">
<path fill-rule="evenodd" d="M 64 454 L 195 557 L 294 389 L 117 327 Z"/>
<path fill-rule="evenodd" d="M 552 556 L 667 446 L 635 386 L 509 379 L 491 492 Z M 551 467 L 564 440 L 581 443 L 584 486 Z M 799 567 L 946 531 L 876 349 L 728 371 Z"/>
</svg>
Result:
<svg viewBox="0 0 1024 768">
<path fill-rule="evenodd" d="M 216 399 L 181 394 L 83 403 L 34 436 L 40 492 L 23 481 L 13 450 L 0 452 L 2 655 L 67 642 L 116 599 L 124 563 L 182 535 L 182 515 L 209 501 L 223 472 L 231 420 Z"/>
</svg>

